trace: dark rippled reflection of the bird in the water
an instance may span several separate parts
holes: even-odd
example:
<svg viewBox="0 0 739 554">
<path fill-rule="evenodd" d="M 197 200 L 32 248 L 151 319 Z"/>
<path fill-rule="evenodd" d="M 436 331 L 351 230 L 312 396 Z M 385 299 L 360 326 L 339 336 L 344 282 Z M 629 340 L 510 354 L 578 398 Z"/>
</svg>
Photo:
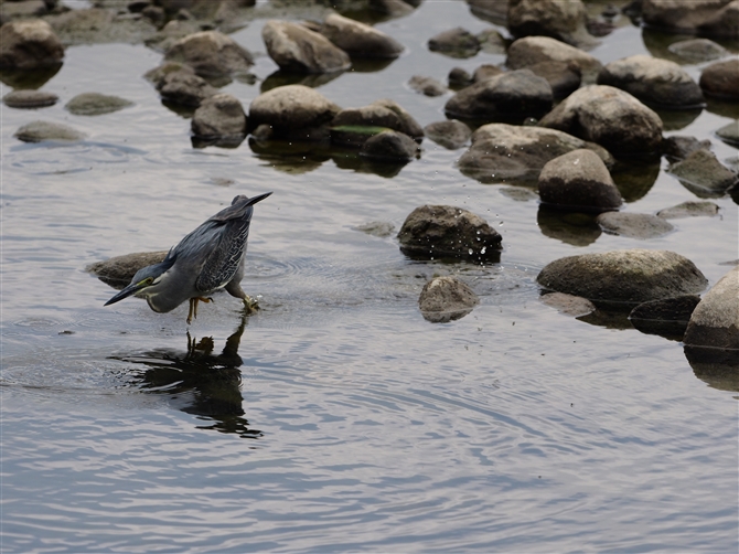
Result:
<svg viewBox="0 0 739 554">
<path fill-rule="evenodd" d="M 197 341 L 188 331 L 188 350 L 157 349 L 141 354 L 110 356 L 114 360 L 146 365 L 136 372 L 131 384 L 151 394 L 163 394 L 182 412 L 200 416 L 212 425 L 199 429 L 234 433 L 242 438 L 259 438 L 258 429 L 248 427 L 242 407 L 242 356 L 238 345 L 246 317 L 228 337 L 221 354 L 213 354 L 212 337 Z"/>
</svg>

